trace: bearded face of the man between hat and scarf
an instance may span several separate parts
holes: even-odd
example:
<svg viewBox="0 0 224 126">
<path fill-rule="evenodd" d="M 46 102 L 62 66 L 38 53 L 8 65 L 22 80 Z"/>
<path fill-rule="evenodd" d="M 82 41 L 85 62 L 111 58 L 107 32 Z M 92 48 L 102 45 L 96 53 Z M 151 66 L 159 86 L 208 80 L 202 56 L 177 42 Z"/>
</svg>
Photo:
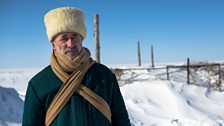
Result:
<svg viewBox="0 0 224 126">
<path fill-rule="evenodd" d="M 73 60 L 82 49 L 82 37 L 74 32 L 61 33 L 55 37 L 52 46 L 54 51 L 58 51 Z"/>
</svg>

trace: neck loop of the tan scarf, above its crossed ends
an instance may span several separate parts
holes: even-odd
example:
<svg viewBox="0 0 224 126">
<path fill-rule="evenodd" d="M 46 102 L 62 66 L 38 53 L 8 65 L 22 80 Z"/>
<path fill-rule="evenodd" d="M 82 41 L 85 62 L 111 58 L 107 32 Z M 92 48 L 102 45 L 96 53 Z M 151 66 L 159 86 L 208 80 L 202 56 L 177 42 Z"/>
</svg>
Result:
<svg viewBox="0 0 224 126">
<path fill-rule="evenodd" d="M 67 58 L 57 51 L 53 51 L 50 59 L 50 64 L 54 73 L 64 83 L 70 76 L 74 75 L 79 76 L 77 79 L 80 80 L 80 77 L 85 75 L 85 72 L 92 63 L 94 63 L 94 61 L 90 57 L 90 52 L 87 48 L 82 48 L 80 54 L 74 60 Z M 72 77 L 72 80 L 74 80 L 76 76 Z"/>
</svg>

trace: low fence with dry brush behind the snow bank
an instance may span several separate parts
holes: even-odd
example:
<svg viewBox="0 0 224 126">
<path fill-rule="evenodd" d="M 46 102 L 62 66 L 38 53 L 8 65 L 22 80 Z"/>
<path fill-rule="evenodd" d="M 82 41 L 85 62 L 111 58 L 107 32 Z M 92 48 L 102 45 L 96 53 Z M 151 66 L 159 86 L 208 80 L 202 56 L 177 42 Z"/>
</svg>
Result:
<svg viewBox="0 0 224 126">
<path fill-rule="evenodd" d="M 223 90 L 222 80 L 224 79 L 224 64 L 198 62 L 190 64 L 188 60 L 186 65 L 167 65 L 164 67 L 138 67 L 138 68 L 115 68 L 112 71 L 115 73 L 119 84 L 124 85 L 138 81 L 136 79 L 139 71 L 156 72 L 156 76 L 160 79 L 174 80 L 195 84 L 199 86 L 214 87 L 219 91 Z M 178 74 L 178 75 L 176 75 Z M 203 75 L 200 75 L 203 74 Z M 125 75 L 125 76 L 123 76 Z"/>
</svg>

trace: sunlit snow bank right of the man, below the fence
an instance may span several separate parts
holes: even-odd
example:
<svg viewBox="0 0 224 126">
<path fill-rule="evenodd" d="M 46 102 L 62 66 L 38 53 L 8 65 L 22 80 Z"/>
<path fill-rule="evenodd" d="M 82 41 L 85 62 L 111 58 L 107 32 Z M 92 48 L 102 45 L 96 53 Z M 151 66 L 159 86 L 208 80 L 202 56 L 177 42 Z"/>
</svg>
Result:
<svg viewBox="0 0 224 126">
<path fill-rule="evenodd" d="M 181 72 L 175 81 L 161 79 L 162 71 L 135 71 L 121 87 L 133 126 L 224 126 L 224 92 L 188 85 Z"/>
</svg>

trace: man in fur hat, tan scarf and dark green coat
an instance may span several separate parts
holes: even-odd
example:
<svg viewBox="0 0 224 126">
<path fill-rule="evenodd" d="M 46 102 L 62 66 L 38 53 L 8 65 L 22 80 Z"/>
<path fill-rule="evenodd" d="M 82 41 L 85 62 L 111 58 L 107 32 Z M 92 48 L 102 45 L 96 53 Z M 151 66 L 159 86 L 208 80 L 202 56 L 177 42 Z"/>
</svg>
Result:
<svg viewBox="0 0 224 126">
<path fill-rule="evenodd" d="M 114 74 L 87 48 L 81 10 L 61 7 L 45 17 L 53 52 L 50 65 L 28 84 L 23 126 L 130 126 Z"/>
</svg>

